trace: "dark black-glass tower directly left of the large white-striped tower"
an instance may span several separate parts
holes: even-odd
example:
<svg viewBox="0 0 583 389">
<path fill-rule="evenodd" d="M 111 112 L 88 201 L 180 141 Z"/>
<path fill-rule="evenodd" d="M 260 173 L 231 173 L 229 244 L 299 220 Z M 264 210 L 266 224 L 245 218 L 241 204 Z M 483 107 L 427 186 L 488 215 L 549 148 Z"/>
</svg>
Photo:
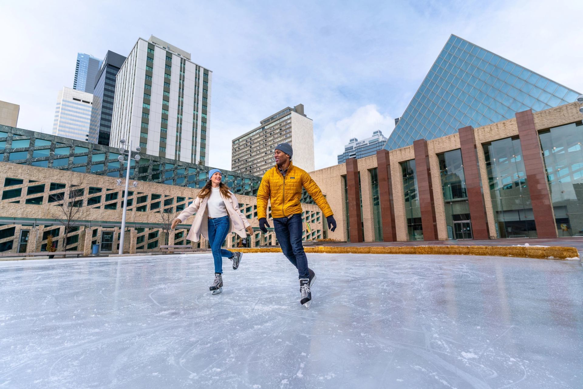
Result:
<svg viewBox="0 0 583 389">
<path fill-rule="evenodd" d="M 89 142 L 109 146 L 111 116 L 115 97 L 115 76 L 124 64 L 125 57 L 107 51 L 99 73 L 94 80 L 93 107 L 89 125 Z"/>
</svg>

